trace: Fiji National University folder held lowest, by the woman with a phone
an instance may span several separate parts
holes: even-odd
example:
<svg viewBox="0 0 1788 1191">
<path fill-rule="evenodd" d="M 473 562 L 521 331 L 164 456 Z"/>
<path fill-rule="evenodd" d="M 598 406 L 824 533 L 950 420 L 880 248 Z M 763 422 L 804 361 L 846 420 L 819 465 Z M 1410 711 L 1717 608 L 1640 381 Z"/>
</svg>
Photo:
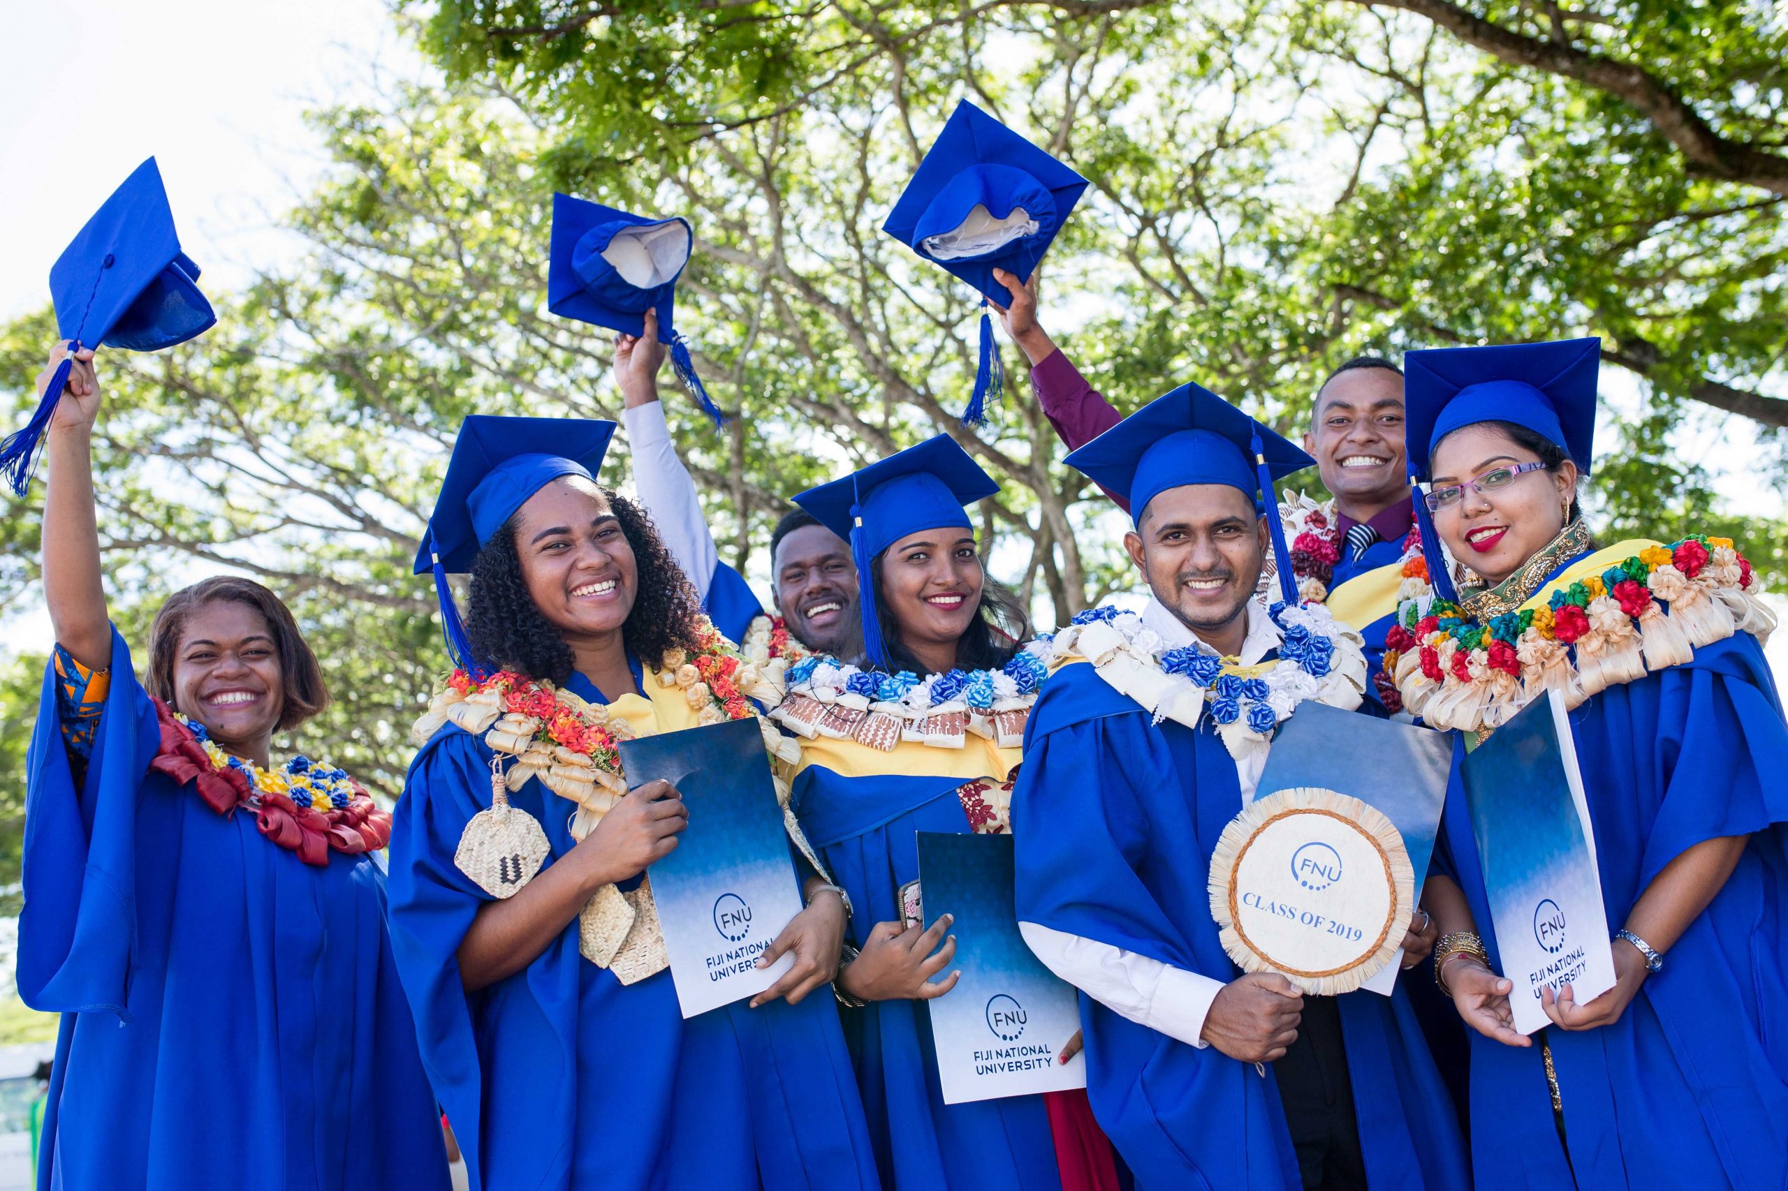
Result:
<svg viewBox="0 0 1788 1191">
<path fill-rule="evenodd" d="M 1080 1028 L 1080 998 L 1042 966 L 1017 930 L 1010 835 L 917 832 L 919 887 L 933 921 L 955 914 L 949 992 L 926 1001 L 944 1103 L 1087 1085 L 1084 1055 L 1057 1062 Z"/>
</svg>

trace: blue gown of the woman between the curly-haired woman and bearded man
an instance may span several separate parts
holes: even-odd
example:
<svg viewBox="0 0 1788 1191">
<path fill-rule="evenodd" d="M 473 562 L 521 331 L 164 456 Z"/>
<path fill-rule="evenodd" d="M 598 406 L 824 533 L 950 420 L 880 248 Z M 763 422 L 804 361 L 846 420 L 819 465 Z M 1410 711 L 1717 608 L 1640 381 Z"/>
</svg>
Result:
<svg viewBox="0 0 1788 1191">
<path fill-rule="evenodd" d="M 980 748 L 976 740 L 971 746 Z M 901 746 L 905 753 L 923 748 Z M 869 760 L 881 758 L 867 746 L 856 749 L 869 755 Z M 957 798 L 957 787 L 966 780 L 840 776 L 821 765 L 808 765 L 796 778 L 796 815 L 831 878 L 851 896 L 851 933 L 856 946 L 862 946 L 876 923 L 901 919 L 898 891 L 919 876 L 919 846 L 914 835 L 966 835 L 971 830 Z M 946 910 L 951 907 L 924 907 L 928 921 Z M 937 1080 L 932 1010 L 924 1001 L 873 1001 L 865 1009 L 844 1012 L 885 1186 L 903 1191 L 1060 1187 L 1042 1096 L 946 1105 Z"/>
</svg>

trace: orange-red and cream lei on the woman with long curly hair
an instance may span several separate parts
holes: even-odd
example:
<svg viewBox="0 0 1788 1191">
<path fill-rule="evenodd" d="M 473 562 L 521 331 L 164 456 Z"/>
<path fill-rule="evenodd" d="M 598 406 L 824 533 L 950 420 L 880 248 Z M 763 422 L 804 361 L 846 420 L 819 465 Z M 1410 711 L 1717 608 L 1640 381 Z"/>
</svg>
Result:
<svg viewBox="0 0 1788 1191">
<path fill-rule="evenodd" d="M 751 699 L 776 694 L 765 674 L 733 653 L 712 624 L 701 626 L 696 651 L 665 653 L 658 683 L 679 688 L 699 724 L 753 717 Z M 493 753 L 513 758 L 504 773 L 511 792 L 538 778 L 554 794 L 578 803 L 574 839 L 588 835 L 628 792 L 617 746 L 633 739 L 633 728 L 611 708 L 551 681 L 511 671 L 479 678 L 458 669 L 411 728 L 411 739 L 427 742 L 449 722 L 483 735 Z M 772 755 L 794 751 L 767 722 L 763 739 Z M 778 794 L 787 798 L 780 787 Z"/>
</svg>

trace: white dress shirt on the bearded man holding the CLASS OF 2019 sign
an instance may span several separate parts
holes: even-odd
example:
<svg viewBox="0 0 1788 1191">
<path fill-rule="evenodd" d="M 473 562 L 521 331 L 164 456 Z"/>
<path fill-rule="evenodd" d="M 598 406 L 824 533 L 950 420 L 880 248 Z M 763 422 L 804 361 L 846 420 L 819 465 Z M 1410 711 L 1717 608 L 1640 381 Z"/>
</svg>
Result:
<svg viewBox="0 0 1788 1191">
<path fill-rule="evenodd" d="M 1250 601 L 1243 615 L 1248 637 L 1243 640 L 1239 658 L 1244 665 L 1253 665 L 1278 647 L 1282 635 L 1261 601 Z M 1143 610 L 1143 624 L 1155 629 L 1168 649 L 1193 646 L 1212 656 L 1218 653 L 1153 597 Z M 1266 769 L 1266 749 L 1236 762 L 1236 778 L 1241 781 L 1237 812 L 1253 799 L 1262 769 Z M 1209 1046 L 1200 1034 L 1210 1001 L 1223 991 L 1223 980 L 1173 967 L 1109 942 L 1051 930 L 1041 923 L 1019 923 L 1017 928 L 1044 967 L 1112 1012 L 1189 1046 Z"/>
</svg>

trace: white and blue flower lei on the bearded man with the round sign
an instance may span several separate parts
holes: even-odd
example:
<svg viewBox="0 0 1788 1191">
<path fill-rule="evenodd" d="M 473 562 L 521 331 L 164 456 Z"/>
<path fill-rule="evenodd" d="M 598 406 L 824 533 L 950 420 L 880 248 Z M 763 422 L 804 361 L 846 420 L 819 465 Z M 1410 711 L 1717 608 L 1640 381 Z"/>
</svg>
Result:
<svg viewBox="0 0 1788 1191">
<path fill-rule="evenodd" d="M 1366 687 L 1361 637 L 1321 604 L 1259 608 L 1284 633 L 1277 662 L 1243 665 L 1198 646 L 1164 649 L 1134 612 L 1105 604 L 1075 615 L 1051 642 L 1055 665 L 1091 662 L 1100 678 L 1135 699 L 1159 724 L 1216 724 L 1230 756 L 1264 749 L 1273 730 L 1307 699 L 1352 710 Z"/>
</svg>

